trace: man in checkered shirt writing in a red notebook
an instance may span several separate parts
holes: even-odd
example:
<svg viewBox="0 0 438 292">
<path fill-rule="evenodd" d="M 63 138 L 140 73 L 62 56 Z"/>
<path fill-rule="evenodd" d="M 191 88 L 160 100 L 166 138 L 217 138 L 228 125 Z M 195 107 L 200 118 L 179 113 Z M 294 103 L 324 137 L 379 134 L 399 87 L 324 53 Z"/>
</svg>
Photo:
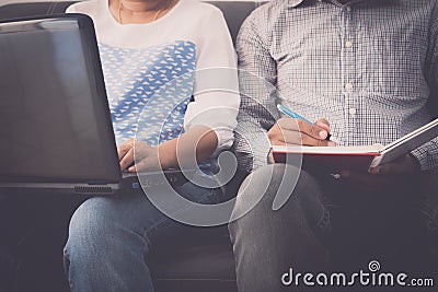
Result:
<svg viewBox="0 0 438 292">
<path fill-rule="evenodd" d="M 438 139 L 370 173 L 266 164 L 270 145 L 388 144 L 430 121 L 437 40 L 436 0 L 283 0 L 249 16 L 237 44 L 243 94 L 234 148 L 253 173 L 235 211 L 266 190 L 230 224 L 240 292 L 296 291 L 303 284 L 288 282 L 291 268 L 369 271 L 372 260 L 435 276 L 422 257 L 430 249 L 425 215 L 436 226 L 423 202 Z M 316 121 L 279 118 L 277 104 Z M 297 173 L 274 211 L 281 183 Z"/>
</svg>

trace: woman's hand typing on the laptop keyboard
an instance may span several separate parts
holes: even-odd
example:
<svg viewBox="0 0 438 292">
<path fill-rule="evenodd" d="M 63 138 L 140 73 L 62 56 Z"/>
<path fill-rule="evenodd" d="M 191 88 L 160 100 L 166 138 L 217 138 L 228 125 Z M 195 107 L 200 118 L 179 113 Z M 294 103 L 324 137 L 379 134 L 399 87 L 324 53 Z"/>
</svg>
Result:
<svg viewBox="0 0 438 292">
<path fill-rule="evenodd" d="M 122 171 L 134 173 L 160 167 L 158 149 L 142 141 L 128 139 L 117 148 L 117 153 Z"/>
</svg>

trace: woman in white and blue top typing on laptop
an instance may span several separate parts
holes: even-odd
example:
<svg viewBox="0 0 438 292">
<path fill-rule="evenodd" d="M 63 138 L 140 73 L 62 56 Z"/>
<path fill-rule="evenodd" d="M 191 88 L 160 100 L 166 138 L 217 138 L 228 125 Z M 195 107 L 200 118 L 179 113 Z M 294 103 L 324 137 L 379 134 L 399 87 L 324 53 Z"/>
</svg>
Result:
<svg viewBox="0 0 438 292">
<path fill-rule="evenodd" d="M 194 92 L 195 70 L 237 66 L 218 9 L 195 0 L 92 0 L 68 12 L 94 21 L 123 171 L 176 168 L 194 148 L 200 163 L 231 147 L 238 95 Z M 200 203 L 222 196 L 192 183 L 176 190 Z M 65 248 L 71 290 L 153 291 L 145 257 L 185 227 L 142 192 L 87 200 Z"/>
</svg>

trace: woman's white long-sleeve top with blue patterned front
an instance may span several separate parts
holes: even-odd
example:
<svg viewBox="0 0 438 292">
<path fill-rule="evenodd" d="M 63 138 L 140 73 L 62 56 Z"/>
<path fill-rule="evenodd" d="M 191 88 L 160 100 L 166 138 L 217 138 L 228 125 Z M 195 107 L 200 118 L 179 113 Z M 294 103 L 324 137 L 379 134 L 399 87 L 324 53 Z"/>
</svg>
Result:
<svg viewBox="0 0 438 292">
<path fill-rule="evenodd" d="M 146 24 L 118 23 L 107 0 L 67 12 L 94 22 L 117 143 L 158 144 L 205 125 L 218 137 L 215 154 L 231 147 L 240 103 L 237 58 L 219 9 L 180 0 Z"/>
</svg>

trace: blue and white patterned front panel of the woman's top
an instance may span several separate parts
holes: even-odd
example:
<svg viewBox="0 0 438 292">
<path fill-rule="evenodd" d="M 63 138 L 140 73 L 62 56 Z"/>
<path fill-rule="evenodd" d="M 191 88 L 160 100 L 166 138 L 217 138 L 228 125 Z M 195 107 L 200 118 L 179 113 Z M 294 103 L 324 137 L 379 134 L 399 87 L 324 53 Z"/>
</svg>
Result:
<svg viewBox="0 0 438 292">
<path fill-rule="evenodd" d="M 157 145 L 177 138 L 193 94 L 196 45 L 99 47 L 117 144 L 135 138 Z"/>
</svg>

